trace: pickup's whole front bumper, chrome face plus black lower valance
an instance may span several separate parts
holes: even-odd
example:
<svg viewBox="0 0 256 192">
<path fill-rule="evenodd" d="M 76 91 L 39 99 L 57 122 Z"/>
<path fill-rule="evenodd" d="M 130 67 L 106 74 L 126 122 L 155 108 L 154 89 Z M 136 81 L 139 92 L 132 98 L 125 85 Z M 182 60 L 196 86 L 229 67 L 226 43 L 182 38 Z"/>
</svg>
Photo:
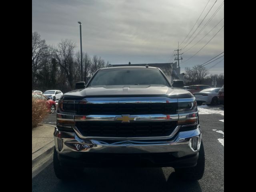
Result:
<svg viewBox="0 0 256 192">
<path fill-rule="evenodd" d="M 195 137 L 198 137 L 196 150 L 192 148 L 192 138 Z M 150 159 L 150 166 L 154 164 L 187 167 L 196 165 L 201 144 L 201 130 L 198 126 L 195 130 L 178 132 L 174 137 L 162 140 L 146 140 L 146 138 L 145 140 L 88 140 L 79 138 L 75 132 L 61 132 L 56 127 L 54 142 L 59 160 L 71 166 L 99 166 L 103 165 L 100 161 L 103 157 L 117 155 L 116 160 L 118 160 L 119 155 L 124 155 L 125 158 L 120 160 L 122 162 L 133 160 L 134 156 L 146 156 L 146 159 Z M 164 162 L 157 162 L 159 160 L 157 157 L 161 155 L 164 156 L 162 158 Z M 131 156 L 132 158 L 129 158 Z M 90 165 L 88 160 L 92 160 Z M 111 162 L 116 161 L 111 160 Z"/>
</svg>

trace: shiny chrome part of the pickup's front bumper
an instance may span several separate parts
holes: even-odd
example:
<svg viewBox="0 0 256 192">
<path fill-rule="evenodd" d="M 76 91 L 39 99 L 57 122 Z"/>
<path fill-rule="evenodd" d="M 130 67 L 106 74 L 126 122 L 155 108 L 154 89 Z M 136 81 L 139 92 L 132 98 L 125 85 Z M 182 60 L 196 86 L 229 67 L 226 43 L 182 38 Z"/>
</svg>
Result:
<svg viewBox="0 0 256 192">
<path fill-rule="evenodd" d="M 197 150 L 192 148 L 191 138 L 198 137 Z M 166 140 L 100 140 L 81 139 L 76 132 L 61 132 L 55 128 L 55 148 L 58 153 L 76 158 L 79 152 L 92 153 L 164 153 L 175 157 L 197 154 L 201 144 L 200 126 L 195 130 L 179 132 Z M 59 145 L 62 145 L 59 150 Z M 75 152 L 75 153 L 74 153 Z M 78 152 L 78 153 L 77 153 Z"/>
</svg>

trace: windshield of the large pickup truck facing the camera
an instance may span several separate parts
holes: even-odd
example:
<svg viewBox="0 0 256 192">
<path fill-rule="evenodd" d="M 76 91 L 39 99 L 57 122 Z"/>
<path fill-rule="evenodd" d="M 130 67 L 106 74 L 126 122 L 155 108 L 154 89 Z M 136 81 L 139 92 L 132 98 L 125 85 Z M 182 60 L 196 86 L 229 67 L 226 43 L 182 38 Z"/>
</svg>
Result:
<svg viewBox="0 0 256 192">
<path fill-rule="evenodd" d="M 108 69 L 99 70 L 89 86 L 111 85 L 167 85 L 158 69 Z"/>
</svg>

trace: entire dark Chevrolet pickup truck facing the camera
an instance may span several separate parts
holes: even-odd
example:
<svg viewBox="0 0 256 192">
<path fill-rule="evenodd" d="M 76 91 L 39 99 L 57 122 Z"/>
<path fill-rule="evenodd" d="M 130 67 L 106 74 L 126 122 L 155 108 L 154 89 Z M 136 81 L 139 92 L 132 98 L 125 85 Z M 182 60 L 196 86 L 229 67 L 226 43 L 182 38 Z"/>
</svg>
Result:
<svg viewBox="0 0 256 192">
<path fill-rule="evenodd" d="M 155 67 L 102 68 L 65 93 L 54 141 L 59 179 L 106 166 L 173 167 L 185 180 L 204 173 L 196 100 Z"/>
</svg>

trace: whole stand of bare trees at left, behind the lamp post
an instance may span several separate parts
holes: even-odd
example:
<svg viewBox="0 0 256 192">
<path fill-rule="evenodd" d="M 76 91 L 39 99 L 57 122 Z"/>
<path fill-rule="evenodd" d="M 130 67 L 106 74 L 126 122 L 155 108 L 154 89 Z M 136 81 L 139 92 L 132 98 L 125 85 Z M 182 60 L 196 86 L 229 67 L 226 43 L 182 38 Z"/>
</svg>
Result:
<svg viewBox="0 0 256 192">
<path fill-rule="evenodd" d="M 57 47 L 49 46 L 40 34 L 32 32 L 32 88 L 72 90 L 74 82 L 81 80 L 80 54 L 74 55 L 75 47 L 76 44 L 70 40 L 62 40 Z M 102 58 L 94 56 L 92 62 L 92 58 L 83 53 L 85 82 L 102 67 L 105 67 Z"/>
</svg>

